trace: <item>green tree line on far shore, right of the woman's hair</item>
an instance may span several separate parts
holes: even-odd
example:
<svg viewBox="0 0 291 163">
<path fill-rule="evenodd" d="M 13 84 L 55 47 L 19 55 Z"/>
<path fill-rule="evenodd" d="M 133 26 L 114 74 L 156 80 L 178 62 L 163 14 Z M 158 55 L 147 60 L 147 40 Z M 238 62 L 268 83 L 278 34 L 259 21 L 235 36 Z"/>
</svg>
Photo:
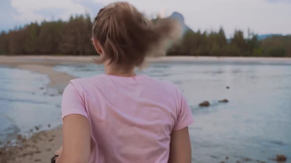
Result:
<svg viewBox="0 0 291 163">
<path fill-rule="evenodd" d="M 245 38 L 243 31 L 235 30 L 233 36 L 226 39 L 222 28 L 209 33 L 188 30 L 182 40 L 169 49 L 168 55 L 290 57 L 291 35 L 259 40 L 250 31 Z"/>
</svg>

